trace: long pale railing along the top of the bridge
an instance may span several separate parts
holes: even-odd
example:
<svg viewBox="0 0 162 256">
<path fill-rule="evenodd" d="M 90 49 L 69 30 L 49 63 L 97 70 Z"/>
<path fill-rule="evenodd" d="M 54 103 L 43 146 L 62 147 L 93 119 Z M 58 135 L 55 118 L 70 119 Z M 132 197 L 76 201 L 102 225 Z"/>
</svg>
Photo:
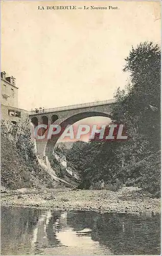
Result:
<svg viewBox="0 0 162 256">
<path fill-rule="evenodd" d="M 34 115 L 35 113 L 36 114 L 41 114 L 41 113 L 59 112 L 59 111 L 65 111 L 65 110 L 89 108 L 90 106 L 100 106 L 100 105 L 106 105 L 106 104 L 112 104 L 112 103 L 115 103 L 115 99 L 94 101 L 94 102 L 75 104 L 75 105 L 67 105 L 67 106 L 58 106 L 56 108 L 51 108 L 51 109 L 37 109 L 38 112 L 36 112 L 36 110 L 32 110 L 32 111 L 29 112 L 29 115 Z"/>
</svg>

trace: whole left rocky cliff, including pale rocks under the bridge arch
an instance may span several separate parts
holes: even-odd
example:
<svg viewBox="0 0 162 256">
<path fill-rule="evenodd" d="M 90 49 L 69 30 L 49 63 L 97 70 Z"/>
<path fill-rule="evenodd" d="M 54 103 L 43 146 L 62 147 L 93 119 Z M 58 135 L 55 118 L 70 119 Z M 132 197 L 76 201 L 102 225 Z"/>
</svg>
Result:
<svg viewBox="0 0 162 256">
<path fill-rule="evenodd" d="M 52 166 L 39 158 L 36 142 L 31 136 L 29 120 L 13 124 L 1 123 L 1 183 L 9 189 L 22 187 L 56 187 L 77 185 L 75 169 L 67 166 L 66 158 L 54 153 Z"/>
</svg>

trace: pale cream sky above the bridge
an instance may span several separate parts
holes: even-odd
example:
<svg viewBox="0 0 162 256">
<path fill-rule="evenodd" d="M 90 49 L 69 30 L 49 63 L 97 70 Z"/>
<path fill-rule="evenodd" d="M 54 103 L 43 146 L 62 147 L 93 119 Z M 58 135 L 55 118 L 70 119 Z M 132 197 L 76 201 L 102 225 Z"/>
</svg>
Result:
<svg viewBox="0 0 162 256">
<path fill-rule="evenodd" d="M 111 99 L 124 88 L 131 47 L 160 44 L 160 2 L 2 1 L 2 71 L 31 110 Z M 77 10 L 47 10 L 76 5 Z M 111 10 L 84 10 L 84 6 Z M 44 10 L 38 10 L 38 6 Z"/>
</svg>

